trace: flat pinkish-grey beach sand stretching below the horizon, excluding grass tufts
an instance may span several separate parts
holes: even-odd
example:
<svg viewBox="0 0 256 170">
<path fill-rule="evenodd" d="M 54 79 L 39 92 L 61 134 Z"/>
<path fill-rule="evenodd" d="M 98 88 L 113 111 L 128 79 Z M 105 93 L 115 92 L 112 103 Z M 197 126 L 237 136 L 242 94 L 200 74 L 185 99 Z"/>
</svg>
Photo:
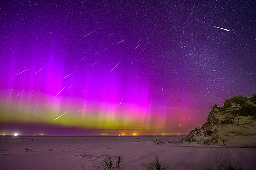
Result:
<svg viewBox="0 0 256 170">
<path fill-rule="evenodd" d="M 120 170 L 141 170 L 141 161 L 150 162 L 156 154 L 170 170 L 205 170 L 215 167 L 215 161 L 229 160 L 234 165 L 239 161 L 243 170 L 255 170 L 255 147 L 185 146 L 176 143 L 181 138 L 184 136 L 5 136 L 0 137 L 0 170 L 103 170 L 101 161 L 108 155 L 123 156 Z"/>
</svg>

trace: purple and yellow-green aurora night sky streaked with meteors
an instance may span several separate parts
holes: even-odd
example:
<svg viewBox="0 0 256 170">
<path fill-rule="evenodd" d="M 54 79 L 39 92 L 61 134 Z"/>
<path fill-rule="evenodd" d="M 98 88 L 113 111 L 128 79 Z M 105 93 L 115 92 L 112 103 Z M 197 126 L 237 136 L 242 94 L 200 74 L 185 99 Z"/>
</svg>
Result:
<svg viewBox="0 0 256 170">
<path fill-rule="evenodd" d="M 255 6 L 1 0 L 0 134 L 188 134 L 256 92 Z"/>
</svg>

